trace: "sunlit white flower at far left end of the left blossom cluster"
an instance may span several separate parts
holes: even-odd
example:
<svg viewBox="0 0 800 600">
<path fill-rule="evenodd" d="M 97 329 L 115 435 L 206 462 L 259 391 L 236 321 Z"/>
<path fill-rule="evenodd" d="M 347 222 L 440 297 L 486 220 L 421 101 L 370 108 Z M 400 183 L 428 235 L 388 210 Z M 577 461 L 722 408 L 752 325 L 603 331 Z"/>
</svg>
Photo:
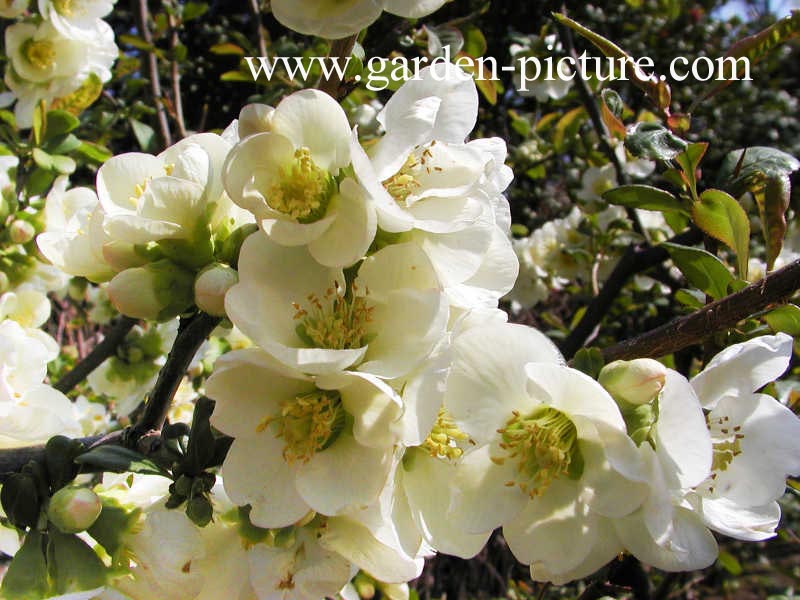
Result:
<svg viewBox="0 0 800 600">
<path fill-rule="evenodd" d="M 103 211 L 94 190 L 67 190 L 67 184 L 66 177 L 59 177 L 47 195 L 45 231 L 36 243 L 47 260 L 66 273 L 95 282 L 106 281 L 116 271 L 106 262 L 103 247 L 120 244 L 103 230 Z M 132 257 L 133 248 L 127 253 Z"/>
</svg>

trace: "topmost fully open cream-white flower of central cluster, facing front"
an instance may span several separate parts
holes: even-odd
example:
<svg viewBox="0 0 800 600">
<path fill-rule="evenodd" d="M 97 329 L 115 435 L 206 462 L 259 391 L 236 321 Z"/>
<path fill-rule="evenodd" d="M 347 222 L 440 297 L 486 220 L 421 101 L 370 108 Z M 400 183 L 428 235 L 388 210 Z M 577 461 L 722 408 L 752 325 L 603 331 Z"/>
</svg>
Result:
<svg viewBox="0 0 800 600">
<path fill-rule="evenodd" d="M 350 178 L 337 179 L 350 162 L 344 110 L 323 92 L 303 90 L 274 110 L 245 107 L 240 133 L 246 127 L 253 134 L 225 166 L 234 202 L 252 212 L 274 242 L 308 245 L 321 264 L 347 267 L 362 258 L 377 221 L 364 190 Z"/>
</svg>

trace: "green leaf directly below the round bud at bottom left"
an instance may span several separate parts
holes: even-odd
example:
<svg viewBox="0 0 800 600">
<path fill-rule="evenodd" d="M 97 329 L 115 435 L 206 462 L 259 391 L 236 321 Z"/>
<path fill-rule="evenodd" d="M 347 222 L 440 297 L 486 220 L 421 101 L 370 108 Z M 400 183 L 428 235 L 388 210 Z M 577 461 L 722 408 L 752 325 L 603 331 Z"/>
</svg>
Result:
<svg viewBox="0 0 800 600">
<path fill-rule="evenodd" d="M 48 532 L 47 569 L 57 594 L 91 590 L 105 584 L 108 569 L 77 535 L 51 527 Z"/>
</svg>

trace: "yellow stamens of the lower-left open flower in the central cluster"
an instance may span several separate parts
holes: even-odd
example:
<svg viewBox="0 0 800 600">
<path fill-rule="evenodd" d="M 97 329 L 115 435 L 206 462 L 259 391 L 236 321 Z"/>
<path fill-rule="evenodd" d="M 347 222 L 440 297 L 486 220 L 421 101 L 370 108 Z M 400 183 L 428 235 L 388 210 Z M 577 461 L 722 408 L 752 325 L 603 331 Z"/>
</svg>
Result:
<svg viewBox="0 0 800 600">
<path fill-rule="evenodd" d="M 338 392 L 314 390 L 281 404 L 278 415 L 266 416 L 256 426 L 261 433 L 275 423 L 277 436 L 283 438 L 284 460 L 291 464 L 307 463 L 330 446 L 344 426 L 345 412 Z"/>
</svg>

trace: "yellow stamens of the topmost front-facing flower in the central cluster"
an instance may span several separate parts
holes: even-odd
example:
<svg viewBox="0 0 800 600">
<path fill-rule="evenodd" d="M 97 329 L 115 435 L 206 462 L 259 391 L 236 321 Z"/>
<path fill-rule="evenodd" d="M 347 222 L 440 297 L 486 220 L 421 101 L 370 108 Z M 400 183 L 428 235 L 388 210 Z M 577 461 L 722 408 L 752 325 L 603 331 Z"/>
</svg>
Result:
<svg viewBox="0 0 800 600">
<path fill-rule="evenodd" d="M 320 169 L 311 158 L 311 151 L 299 148 L 294 160 L 284 165 L 267 191 L 267 204 L 300 223 L 313 223 L 325 214 L 331 197 L 336 192 L 336 180 Z"/>
</svg>

